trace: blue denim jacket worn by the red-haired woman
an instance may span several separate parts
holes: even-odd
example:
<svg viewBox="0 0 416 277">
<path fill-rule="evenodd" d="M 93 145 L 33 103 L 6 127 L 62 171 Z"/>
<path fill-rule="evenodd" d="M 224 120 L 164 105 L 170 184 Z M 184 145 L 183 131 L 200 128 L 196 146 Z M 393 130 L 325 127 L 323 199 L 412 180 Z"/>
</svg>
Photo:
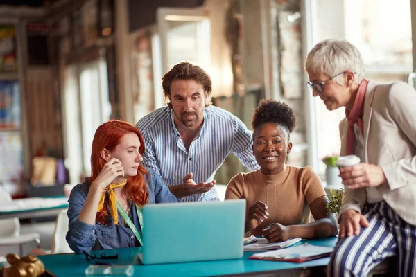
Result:
<svg viewBox="0 0 416 277">
<path fill-rule="evenodd" d="M 177 202 L 177 198 L 170 192 L 161 177 L 153 170 L 148 170 L 148 172 L 147 190 L 149 193 L 149 204 Z M 127 224 L 123 224 L 123 217 L 119 213 L 117 213 L 119 225 L 114 224 L 112 219 L 110 219 L 110 223 L 107 226 L 99 222 L 96 222 L 95 225 L 90 225 L 78 220 L 78 215 L 84 206 L 88 190 L 88 179 L 85 179 L 84 183 L 78 184 L 71 190 L 67 212 L 69 218 L 67 242 L 69 247 L 75 253 L 83 253 L 83 250 L 88 252 L 90 250 L 141 246 L 133 231 Z M 139 218 L 134 202 L 130 202 L 129 217 L 141 235 Z"/>
</svg>

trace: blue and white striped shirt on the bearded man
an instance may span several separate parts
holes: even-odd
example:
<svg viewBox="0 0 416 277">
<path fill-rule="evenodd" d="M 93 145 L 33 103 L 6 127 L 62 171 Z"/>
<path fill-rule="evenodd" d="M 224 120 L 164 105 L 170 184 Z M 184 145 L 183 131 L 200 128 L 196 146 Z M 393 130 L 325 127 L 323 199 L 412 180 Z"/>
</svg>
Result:
<svg viewBox="0 0 416 277">
<path fill-rule="evenodd" d="M 136 127 L 143 135 L 146 148 L 143 165 L 158 172 L 168 186 L 183 184 L 182 177 L 189 172 L 193 173 L 197 184 L 212 181 L 216 170 L 231 152 L 250 170 L 259 169 L 252 153 L 252 132 L 225 109 L 215 106 L 204 109 L 202 128 L 189 151 L 180 138 L 173 110 L 169 107 L 144 116 Z M 213 200 L 218 200 L 215 186 L 207 193 L 180 199 L 182 202 Z"/>
</svg>

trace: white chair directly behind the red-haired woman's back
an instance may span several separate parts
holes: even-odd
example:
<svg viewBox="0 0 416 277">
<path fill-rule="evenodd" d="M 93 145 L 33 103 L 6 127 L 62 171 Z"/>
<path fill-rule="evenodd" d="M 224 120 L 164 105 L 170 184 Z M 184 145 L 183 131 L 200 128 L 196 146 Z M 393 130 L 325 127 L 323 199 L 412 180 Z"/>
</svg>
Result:
<svg viewBox="0 0 416 277">
<path fill-rule="evenodd" d="M 58 253 L 73 253 L 72 249 L 69 248 L 67 239 L 65 236 L 68 232 L 69 219 L 67 211 L 60 211 L 55 221 L 55 231 L 53 232 L 52 249 L 32 249 L 32 253 L 35 255 L 45 254 L 58 254 Z"/>
</svg>

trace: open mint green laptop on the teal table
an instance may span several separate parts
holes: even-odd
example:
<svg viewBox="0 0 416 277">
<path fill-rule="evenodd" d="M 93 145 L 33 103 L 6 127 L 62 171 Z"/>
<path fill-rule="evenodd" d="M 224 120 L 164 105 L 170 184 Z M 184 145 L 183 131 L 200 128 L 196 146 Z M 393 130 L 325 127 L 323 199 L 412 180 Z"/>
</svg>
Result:
<svg viewBox="0 0 416 277">
<path fill-rule="evenodd" d="M 245 199 L 143 207 L 144 265 L 243 257 Z"/>
</svg>

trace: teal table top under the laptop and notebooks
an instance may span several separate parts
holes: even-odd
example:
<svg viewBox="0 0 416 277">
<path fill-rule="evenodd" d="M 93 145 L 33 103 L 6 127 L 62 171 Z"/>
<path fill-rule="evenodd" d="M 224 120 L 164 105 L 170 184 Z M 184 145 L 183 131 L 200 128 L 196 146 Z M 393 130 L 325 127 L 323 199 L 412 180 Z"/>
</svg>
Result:
<svg viewBox="0 0 416 277">
<path fill-rule="evenodd" d="M 317 246 L 333 247 L 338 238 L 325 238 L 320 240 L 302 240 L 294 245 L 309 244 Z M 309 262 L 277 262 L 265 260 L 249 260 L 254 252 L 245 252 L 244 257 L 236 260 L 214 260 L 209 262 L 183 262 L 164 265 L 141 265 L 137 254 L 141 253 L 141 247 L 112 249 L 105 251 L 92 251 L 91 253 L 119 254 L 117 260 L 102 260 L 113 262 L 117 265 L 133 265 L 134 276 L 221 276 L 221 275 L 245 275 L 254 273 L 276 273 L 279 271 L 301 270 L 306 267 L 324 267 L 329 258 L 320 258 Z M 55 276 L 85 276 L 85 269 L 93 264 L 88 262 L 84 255 L 56 254 L 39 257 L 46 267 Z"/>
</svg>

